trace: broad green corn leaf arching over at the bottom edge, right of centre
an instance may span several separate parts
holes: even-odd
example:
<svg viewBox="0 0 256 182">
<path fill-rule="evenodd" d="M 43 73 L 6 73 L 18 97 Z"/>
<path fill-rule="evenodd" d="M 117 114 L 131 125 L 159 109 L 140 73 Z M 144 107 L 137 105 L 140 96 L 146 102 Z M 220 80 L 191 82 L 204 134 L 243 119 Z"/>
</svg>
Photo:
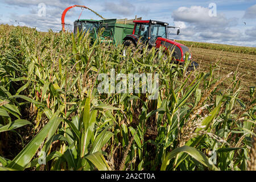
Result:
<svg viewBox="0 0 256 182">
<path fill-rule="evenodd" d="M 170 160 L 181 152 L 185 152 L 188 155 L 192 156 L 192 158 L 196 159 L 198 162 L 200 162 L 204 166 L 208 167 L 210 170 L 219 171 L 219 169 L 216 166 L 214 166 L 212 161 L 209 160 L 206 155 L 204 155 L 202 152 L 200 152 L 196 148 L 189 147 L 189 146 L 183 146 L 183 147 L 180 147 L 180 148 L 175 148 L 174 150 L 169 152 L 167 154 L 166 158 L 164 159 L 164 162 L 161 166 L 161 171 L 165 171 L 166 167 L 170 163 Z"/>
</svg>

